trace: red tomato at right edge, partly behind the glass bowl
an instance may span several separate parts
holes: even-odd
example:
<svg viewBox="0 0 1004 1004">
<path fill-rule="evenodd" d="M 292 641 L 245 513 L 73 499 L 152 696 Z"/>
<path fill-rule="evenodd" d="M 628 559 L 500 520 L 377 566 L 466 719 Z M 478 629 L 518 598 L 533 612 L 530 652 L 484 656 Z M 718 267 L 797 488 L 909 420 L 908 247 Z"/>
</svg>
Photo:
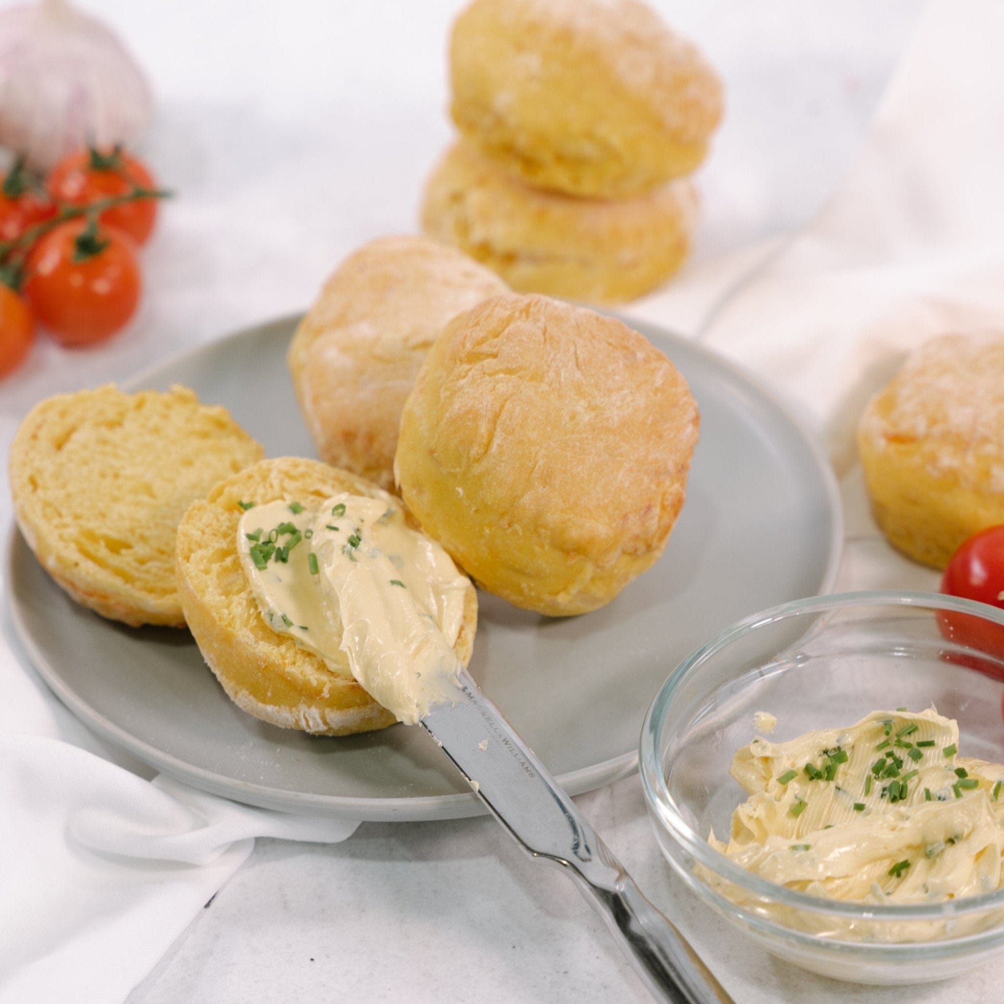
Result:
<svg viewBox="0 0 1004 1004">
<path fill-rule="evenodd" d="M 1004 526 L 982 530 L 962 544 L 945 569 L 942 592 L 1004 610 Z M 946 639 L 1004 660 L 1004 624 L 948 610 L 938 614 L 938 623 Z M 1004 677 L 996 664 L 981 662 L 983 672 Z"/>
</svg>

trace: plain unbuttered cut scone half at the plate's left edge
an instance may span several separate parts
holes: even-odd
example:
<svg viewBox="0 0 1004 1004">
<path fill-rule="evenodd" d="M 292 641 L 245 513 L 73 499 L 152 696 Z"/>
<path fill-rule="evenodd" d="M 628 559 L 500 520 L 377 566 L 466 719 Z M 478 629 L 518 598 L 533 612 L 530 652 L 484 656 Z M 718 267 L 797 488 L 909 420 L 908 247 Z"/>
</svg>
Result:
<svg viewBox="0 0 1004 1004">
<path fill-rule="evenodd" d="M 194 392 L 60 394 L 10 448 L 14 512 L 46 571 L 78 603 L 139 626 L 182 628 L 175 534 L 193 499 L 260 460 L 225 408 Z"/>
</svg>

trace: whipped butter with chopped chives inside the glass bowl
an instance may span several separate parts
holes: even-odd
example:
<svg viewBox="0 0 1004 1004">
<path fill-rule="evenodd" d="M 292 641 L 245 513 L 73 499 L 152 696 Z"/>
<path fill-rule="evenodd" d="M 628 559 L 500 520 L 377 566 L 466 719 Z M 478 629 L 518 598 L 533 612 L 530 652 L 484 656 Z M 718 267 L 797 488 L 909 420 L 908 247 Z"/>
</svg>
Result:
<svg viewBox="0 0 1004 1004">
<path fill-rule="evenodd" d="M 782 743 L 757 737 L 731 774 L 749 797 L 728 841 L 709 841 L 770 882 L 888 905 L 1002 885 L 1004 766 L 959 756 L 958 724 L 933 708 L 874 711 Z"/>
</svg>

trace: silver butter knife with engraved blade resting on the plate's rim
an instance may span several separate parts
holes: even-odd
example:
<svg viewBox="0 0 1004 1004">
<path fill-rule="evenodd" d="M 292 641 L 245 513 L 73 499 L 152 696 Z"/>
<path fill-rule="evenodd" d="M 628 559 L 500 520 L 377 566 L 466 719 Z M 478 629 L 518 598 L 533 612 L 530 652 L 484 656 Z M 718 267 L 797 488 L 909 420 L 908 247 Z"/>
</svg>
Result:
<svg viewBox="0 0 1004 1004">
<path fill-rule="evenodd" d="M 575 883 L 656 1000 L 735 1004 L 466 672 L 460 690 L 455 704 L 434 708 L 422 725 L 492 815 L 534 860 Z"/>
</svg>

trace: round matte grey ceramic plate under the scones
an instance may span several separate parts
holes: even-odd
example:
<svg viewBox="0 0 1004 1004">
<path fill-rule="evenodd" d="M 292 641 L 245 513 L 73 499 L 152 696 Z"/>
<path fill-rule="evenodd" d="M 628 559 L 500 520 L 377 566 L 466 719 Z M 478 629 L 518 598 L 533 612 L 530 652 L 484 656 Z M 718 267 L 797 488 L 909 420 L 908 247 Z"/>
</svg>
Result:
<svg viewBox="0 0 1004 1004">
<path fill-rule="evenodd" d="M 269 456 L 314 451 L 286 374 L 297 318 L 166 362 L 133 389 L 194 388 Z M 765 606 L 824 591 L 840 541 L 829 467 L 767 394 L 706 349 L 634 323 L 701 408 L 687 505 L 658 564 L 594 613 L 549 619 L 482 593 L 471 672 L 566 790 L 634 771 L 653 696 L 695 646 Z M 481 803 L 422 729 L 331 739 L 231 704 L 184 632 L 133 630 L 73 603 L 16 531 L 14 622 L 39 673 L 96 732 L 199 788 L 362 819 L 474 815 Z"/>
</svg>

